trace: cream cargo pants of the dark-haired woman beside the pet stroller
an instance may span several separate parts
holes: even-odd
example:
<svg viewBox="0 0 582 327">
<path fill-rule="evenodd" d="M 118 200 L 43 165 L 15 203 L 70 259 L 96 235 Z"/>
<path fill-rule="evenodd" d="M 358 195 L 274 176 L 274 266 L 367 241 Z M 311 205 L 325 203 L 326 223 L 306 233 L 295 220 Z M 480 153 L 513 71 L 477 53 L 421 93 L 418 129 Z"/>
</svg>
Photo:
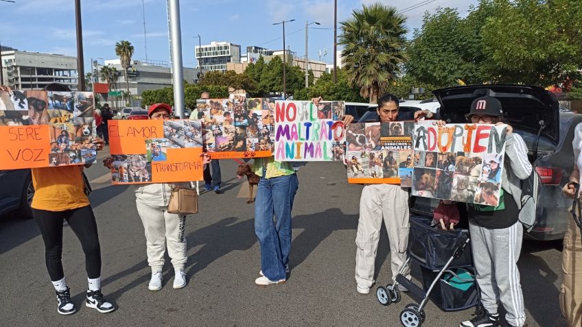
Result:
<svg viewBox="0 0 582 327">
<path fill-rule="evenodd" d="M 406 261 L 408 245 L 408 191 L 399 185 L 364 186 L 360 197 L 360 219 L 356 235 L 356 282 L 362 287 L 374 283 L 374 265 L 382 219 L 390 241 L 392 279 Z M 410 279 L 410 269 L 404 271 Z"/>
</svg>

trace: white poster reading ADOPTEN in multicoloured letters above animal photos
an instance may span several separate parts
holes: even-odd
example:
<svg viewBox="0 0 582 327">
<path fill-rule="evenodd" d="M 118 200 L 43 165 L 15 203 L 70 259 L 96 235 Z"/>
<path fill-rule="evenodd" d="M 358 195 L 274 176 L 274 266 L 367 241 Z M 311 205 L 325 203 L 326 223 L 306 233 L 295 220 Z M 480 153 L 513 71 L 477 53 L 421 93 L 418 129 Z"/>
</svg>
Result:
<svg viewBox="0 0 582 327">
<path fill-rule="evenodd" d="M 498 206 L 507 125 L 415 125 L 412 195 Z"/>
</svg>

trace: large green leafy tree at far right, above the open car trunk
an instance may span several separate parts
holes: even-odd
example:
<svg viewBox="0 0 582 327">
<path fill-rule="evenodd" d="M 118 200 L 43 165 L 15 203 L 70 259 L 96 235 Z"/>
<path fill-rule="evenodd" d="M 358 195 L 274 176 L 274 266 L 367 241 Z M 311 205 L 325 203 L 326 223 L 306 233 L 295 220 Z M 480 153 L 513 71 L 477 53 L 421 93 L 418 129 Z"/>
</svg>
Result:
<svg viewBox="0 0 582 327">
<path fill-rule="evenodd" d="M 581 79 L 582 1 L 494 0 L 482 27 L 493 82 L 563 86 Z"/>
</svg>

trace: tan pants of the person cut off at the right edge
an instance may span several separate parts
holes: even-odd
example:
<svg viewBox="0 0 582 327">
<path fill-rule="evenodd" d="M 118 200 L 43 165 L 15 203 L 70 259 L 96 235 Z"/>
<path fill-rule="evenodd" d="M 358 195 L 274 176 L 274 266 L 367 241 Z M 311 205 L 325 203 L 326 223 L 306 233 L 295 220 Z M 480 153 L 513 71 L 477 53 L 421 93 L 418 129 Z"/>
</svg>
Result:
<svg viewBox="0 0 582 327">
<path fill-rule="evenodd" d="M 582 234 L 570 218 L 563 239 L 560 308 L 568 326 L 582 326 Z"/>
</svg>

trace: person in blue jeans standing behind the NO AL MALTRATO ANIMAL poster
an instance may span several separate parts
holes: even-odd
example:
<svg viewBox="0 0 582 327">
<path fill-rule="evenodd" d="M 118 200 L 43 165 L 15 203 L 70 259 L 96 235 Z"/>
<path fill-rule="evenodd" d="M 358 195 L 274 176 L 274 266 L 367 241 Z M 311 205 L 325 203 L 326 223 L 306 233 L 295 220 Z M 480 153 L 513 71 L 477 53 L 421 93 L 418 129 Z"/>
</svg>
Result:
<svg viewBox="0 0 582 327">
<path fill-rule="evenodd" d="M 261 271 L 255 284 L 280 284 L 287 279 L 291 210 L 299 180 L 290 162 L 278 162 L 274 157 L 255 159 L 253 170 L 261 178 L 255 200 L 255 234 L 261 244 Z"/>
</svg>

